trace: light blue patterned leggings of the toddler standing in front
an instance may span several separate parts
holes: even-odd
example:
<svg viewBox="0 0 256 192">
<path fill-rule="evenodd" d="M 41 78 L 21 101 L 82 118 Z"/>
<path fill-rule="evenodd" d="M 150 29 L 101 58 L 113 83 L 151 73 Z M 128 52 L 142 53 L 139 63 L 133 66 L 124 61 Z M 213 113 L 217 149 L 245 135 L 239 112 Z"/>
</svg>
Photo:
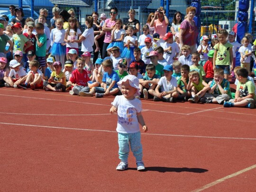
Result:
<svg viewBox="0 0 256 192">
<path fill-rule="evenodd" d="M 140 132 L 134 134 L 118 134 L 119 159 L 128 162 L 128 155 L 131 147 L 136 161 L 142 161 L 142 144 Z"/>
</svg>

